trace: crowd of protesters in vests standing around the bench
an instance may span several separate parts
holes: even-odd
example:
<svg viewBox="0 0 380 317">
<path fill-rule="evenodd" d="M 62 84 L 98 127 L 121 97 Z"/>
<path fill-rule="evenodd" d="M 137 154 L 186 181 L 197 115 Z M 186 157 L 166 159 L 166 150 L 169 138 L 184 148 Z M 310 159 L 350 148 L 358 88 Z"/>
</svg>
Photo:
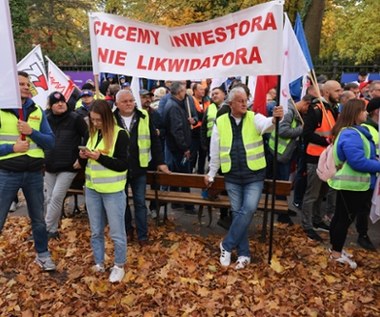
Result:
<svg viewBox="0 0 380 317">
<path fill-rule="evenodd" d="M 84 174 L 85 203 L 91 229 L 96 272 L 105 271 L 105 226 L 114 243 L 109 280 L 123 279 L 127 241 L 135 236 L 149 245 L 148 216 L 157 217 L 154 202 L 145 201 L 146 172 L 198 173 L 205 187 L 224 175 L 231 210 L 221 209 L 218 224 L 227 230 L 220 243 L 220 263 L 236 269 L 251 261 L 249 226 L 264 179 L 294 179 L 294 200 L 305 235 L 323 242 L 318 231 L 329 231 L 330 258 L 356 268 L 343 249 L 349 225 L 356 218 L 358 244 L 375 250 L 368 237 L 368 216 L 376 173 L 380 172 L 378 116 L 380 81 L 349 83 L 334 80 L 311 85 L 288 111 L 275 105 L 273 117 L 255 113 L 251 92 L 239 80 L 213 87 L 211 81 L 165 81 L 134 96 L 130 84 L 106 80 L 95 91 L 83 85 L 78 100 L 49 95 L 45 111 L 30 98 L 29 78 L 19 72 L 22 109 L 0 109 L 0 231 L 19 189 L 25 196 L 37 252 L 43 270 L 55 270 L 48 239 L 59 238 L 66 192 Z M 136 105 L 141 102 L 141 109 Z M 367 117 L 368 113 L 368 117 Z M 275 125 L 279 121 L 278 149 Z M 319 156 L 334 143 L 336 177 L 324 182 L 316 169 Z M 276 175 L 272 165 L 277 160 Z M 133 208 L 128 190 L 133 193 Z M 187 192 L 189 188 L 174 190 Z M 286 197 L 284 197 L 286 199 Z M 326 209 L 322 201 L 326 200 Z M 194 214 L 194 206 L 172 204 Z M 134 213 L 134 217 L 132 216 Z M 278 217 L 293 224 L 294 211 Z M 134 220 L 134 221 L 133 221 Z"/>
</svg>

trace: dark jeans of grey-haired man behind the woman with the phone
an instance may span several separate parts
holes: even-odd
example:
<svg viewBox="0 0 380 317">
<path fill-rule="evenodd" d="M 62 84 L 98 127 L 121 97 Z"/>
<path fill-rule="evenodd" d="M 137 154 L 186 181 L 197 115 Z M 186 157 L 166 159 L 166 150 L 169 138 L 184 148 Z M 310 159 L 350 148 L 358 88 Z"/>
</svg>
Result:
<svg viewBox="0 0 380 317">
<path fill-rule="evenodd" d="M 137 238 L 139 240 L 148 240 L 148 209 L 146 208 L 145 202 L 146 174 L 139 175 L 137 177 L 128 177 L 126 192 L 128 191 L 128 185 L 131 186 L 133 194 Z M 132 213 L 129 203 L 127 203 L 127 208 L 125 211 L 125 226 L 127 232 L 129 230 L 133 230 Z"/>
</svg>

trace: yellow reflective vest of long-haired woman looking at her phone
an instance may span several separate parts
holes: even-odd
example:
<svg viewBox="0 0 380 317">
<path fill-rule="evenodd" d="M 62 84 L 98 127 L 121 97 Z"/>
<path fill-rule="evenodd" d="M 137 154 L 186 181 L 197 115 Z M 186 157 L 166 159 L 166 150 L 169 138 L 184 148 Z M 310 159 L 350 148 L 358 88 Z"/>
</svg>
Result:
<svg viewBox="0 0 380 317">
<path fill-rule="evenodd" d="M 108 156 L 113 157 L 115 144 L 119 131 L 122 130 L 118 126 L 114 127 L 113 143 L 109 149 Z M 87 142 L 89 149 L 96 149 L 102 152 L 105 149 L 104 139 L 101 139 L 95 147 L 98 140 L 98 132 Z M 127 171 L 116 172 L 104 167 L 95 160 L 89 159 L 86 166 L 86 187 L 96 190 L 99 193 L 116 193 L 124 190 L 127 181 Z"/>
</svg>

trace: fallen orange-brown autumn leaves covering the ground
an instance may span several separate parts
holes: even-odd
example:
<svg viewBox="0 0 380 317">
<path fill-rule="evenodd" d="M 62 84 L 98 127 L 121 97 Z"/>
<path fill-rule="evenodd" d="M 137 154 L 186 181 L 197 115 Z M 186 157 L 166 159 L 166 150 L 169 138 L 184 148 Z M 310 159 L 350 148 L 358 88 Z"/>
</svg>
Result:
<svg viewBox="0 0 380 317">
<path fill-rule="evenodd" d="M 356 270 L 332 264 L 326 247 L 305 238 L 299 226 L 276 226 L 271 265 L 267 244 L 253 236 L 253 263 L 236 271 L 219 264 L 221 236 L 151 225 L 151 245 L 128 244 L 119 284 L 109 283 L 109 271 L 92 272 L 86 218 L 63 219 L 60 240 L 49 241 L 53 273 L 33 263 L 29 228 L 26 217 L 9 217 L 0 235 L 0 316 L 380 315 L 378 253 L 353 250 Z M 110 268 L 108 237 L 106 250 Z"/>
</svg>

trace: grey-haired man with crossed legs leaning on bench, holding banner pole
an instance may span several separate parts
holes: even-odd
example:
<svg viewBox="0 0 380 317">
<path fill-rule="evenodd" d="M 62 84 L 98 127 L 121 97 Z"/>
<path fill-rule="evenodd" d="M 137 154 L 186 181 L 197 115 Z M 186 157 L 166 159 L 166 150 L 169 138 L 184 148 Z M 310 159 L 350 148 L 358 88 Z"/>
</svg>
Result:
<svg viewBox="0 0 380 317">
<path fill-rule="evenodd" d="M 220 243 L 220 264 L 229 266 L 231 253 L 237 249 L 238 270 L 251 262 L 248 230 L 261 197 L 266 168 L 262 135 L 273 130 L 275 118 L 249 111 L 243 87 L 233 88 L 227 102 L 229 111 L 216 119 L 212 130 L 210 171 L 205 184 L 208 186 L 221 168 L 233 217 Z M 273 115 L 282 118 L 282 106 L 275 107 Z"/>
</svg>

